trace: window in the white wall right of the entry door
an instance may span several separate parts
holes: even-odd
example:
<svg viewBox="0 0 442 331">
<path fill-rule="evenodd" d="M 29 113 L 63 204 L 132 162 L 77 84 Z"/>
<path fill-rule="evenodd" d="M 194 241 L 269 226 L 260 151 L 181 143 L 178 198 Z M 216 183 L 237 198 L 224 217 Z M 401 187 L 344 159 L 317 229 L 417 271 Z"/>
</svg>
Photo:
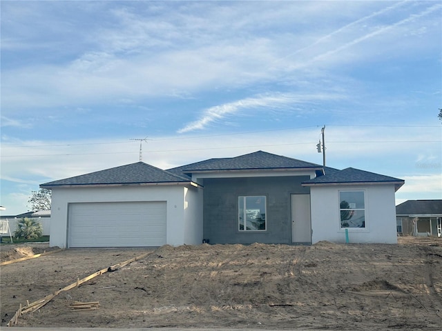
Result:
<svg viewBox="0 0 442 331">
<path fill-rule="evenodd" d="M 339 192 L 340 228 L 365 228 L 365 192 Z"/>
</svg>

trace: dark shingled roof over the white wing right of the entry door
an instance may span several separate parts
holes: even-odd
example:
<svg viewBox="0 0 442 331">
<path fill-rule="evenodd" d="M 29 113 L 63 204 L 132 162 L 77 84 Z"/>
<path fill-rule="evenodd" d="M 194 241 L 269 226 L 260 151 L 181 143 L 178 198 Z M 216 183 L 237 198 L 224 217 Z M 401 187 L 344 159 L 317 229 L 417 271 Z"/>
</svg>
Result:
<svg viewBox="0 0 442 331">
<path fill-rule="evenodd" d="M 327 174 L 328 173 L 328 174 Z M 375 174 L 355 168 L 346 168 L 344 170 L 332 170 L 325 172 L 324 176 L 316 177 L 302 183 L 303 186 L 315 185 L 336 185 L 336 184 L 394 184 L 398 190 L 405 182 L 403 179 Z"/>
</svg>

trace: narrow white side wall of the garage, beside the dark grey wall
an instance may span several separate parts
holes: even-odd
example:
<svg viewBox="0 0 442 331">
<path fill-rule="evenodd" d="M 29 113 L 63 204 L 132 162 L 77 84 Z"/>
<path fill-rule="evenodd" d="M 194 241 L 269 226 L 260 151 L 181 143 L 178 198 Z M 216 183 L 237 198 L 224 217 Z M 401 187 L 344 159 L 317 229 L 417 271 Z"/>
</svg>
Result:
<svg viewBox="0 0 442 331">
<path fill-rule="evenodd" d="M 202 243 L 202 188 L 184 188 L 184 243 Z"/>
</svg>

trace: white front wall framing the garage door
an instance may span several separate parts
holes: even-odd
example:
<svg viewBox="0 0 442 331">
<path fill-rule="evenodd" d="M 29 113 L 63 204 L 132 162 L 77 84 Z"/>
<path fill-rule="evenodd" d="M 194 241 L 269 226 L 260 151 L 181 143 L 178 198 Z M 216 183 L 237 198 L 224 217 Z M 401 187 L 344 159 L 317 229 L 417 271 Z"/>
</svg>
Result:
<svg viewBox="0 0 442 331">
<path fill-rule="evenodd" d="M 68 238 L 68 203 L 166 201 L 166 242 L 183 245 L 184 186 L 113 186 L 102 188 L 53 188 L 51 204 L 50 246 L 66 248 Z M 191 230 L 189 230 L 191 231 Z"/>
</svg>

